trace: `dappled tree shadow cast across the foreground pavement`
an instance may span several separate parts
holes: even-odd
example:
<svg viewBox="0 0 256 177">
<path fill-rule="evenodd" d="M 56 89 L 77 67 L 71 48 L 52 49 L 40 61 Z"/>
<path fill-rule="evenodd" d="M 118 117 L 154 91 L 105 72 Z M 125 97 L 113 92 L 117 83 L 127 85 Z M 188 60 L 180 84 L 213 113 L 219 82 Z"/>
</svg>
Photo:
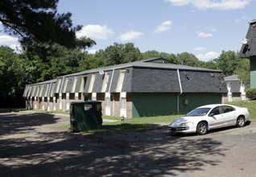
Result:
<svg viewBox="0 0 256 177">
<path fill-rule="evenodd" d="M 1 121 L 1 135 L 54 121 L 50 115 L 31 117 L 1 117 L 8 120 Z M 206 164 L 214 167 L 220 163 L 205 156 L 224 156 L 224 149 L 216 148 L 221 142 L 170 136 L 167 129 L 37 135 L 36 139 L 0 139 L 0 176 L 175 176 L 174 171 L 200 171 Z"/>
</svg>

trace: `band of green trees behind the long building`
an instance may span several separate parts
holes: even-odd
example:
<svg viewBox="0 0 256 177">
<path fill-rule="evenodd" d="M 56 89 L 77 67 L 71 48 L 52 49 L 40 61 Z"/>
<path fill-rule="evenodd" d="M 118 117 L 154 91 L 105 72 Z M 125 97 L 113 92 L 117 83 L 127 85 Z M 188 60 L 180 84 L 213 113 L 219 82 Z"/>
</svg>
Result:
<svg viewBox="0 0 256 177">
<path fill-rule="evenodd" d="M 86 43 L 91 39 L 77 39 L 76 42 Z M 80 43 L 79 42 L 79 43 Z M 74 72 L 82 72 L 93 68 L 100 68 L 108 65 L 123 64 L 132 61 L 146 60 L 155 57 L 163 57 L 171 60 L 175 64 L 185 64 L 193 67 L 211 68 L 221 70 L 223 74 L 237 74 L 239 78 L 249 80 L 250 61 L 238 59 L 234 51 L 223 51 L 221 56 L 208 62 L 199 61 L 196 56 L 184 52 L 181 54 L 168 54 L 158 51 L 146 51 L 141 53 L 134 43 L 114 43 L 105 50 L 97 51 L 94 55 L 81 50 L 82 44 L 77 44 L 76 48 L 70 49 L 57 43 L 52 43 L 47 50 L 30 52 L 24 50 L 22 54 L 14 53 L 10 47 L 1 47 L 0 50 L 0 79 L 1 101 L 24 103 L 23 89 L 25 84 L 33 84 L 45 80 L 56 79 L 58 76 L 68 75 Z M 35 43 L 43 46 L 43 43 Z M 94 45 L 94 43 L 91 43 Z M 42 59 L 42 56 L 44 57 Z M 223 68 L 225 64 L 226 68 Z M 234 67 L 235 66 L 235 67 Z M 245 84 L 245 82 L 244 82 Z M 6 94 L 8 93 L 8 94 Z M 16 99 L 17 101 L 13 101 Z M 9 105 L 10 106 L 10 105 Z"/>
</svg>

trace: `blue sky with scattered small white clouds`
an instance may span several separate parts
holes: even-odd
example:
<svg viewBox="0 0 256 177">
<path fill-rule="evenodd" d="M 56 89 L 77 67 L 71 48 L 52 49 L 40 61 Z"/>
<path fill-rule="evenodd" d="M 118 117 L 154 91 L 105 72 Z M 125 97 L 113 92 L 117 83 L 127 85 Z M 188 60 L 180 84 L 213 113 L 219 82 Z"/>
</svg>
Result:
<svg viewBox="0 0 256 177">
<path fill-rule="evenodd" d="M 83 26 L 77 38 L 96 41 L 89 53 L 134 43 L 141 52 L 189 52 L 202 61 L 239 51 L 256 19 L 256 0 L 59 0 L 57 9 Z M 0 45 L 19 48 L 19 41 L 0 32 Z"/>
</svg>

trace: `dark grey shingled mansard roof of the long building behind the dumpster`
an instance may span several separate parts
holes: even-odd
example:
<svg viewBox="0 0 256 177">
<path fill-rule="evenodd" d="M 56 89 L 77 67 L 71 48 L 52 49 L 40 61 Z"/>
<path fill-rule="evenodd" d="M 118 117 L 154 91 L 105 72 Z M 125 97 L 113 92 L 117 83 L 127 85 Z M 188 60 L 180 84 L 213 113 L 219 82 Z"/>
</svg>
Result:
<svg viewBox="0 0 256 177">
<path fill-rule="evenodd" d="M 24 90 L 23 96 L 51 97 L 54 93 L 79 93 L 81 87 L 84 87 L 84 93 L 101 93 L 105 73 L 109 75 L 109 82 L 103 92 L 116 93 L 120 92 L 117 91 L 117 87 L 121 72 L 125 72 L 121 92 L 126 93 L 227 92 L 225 80 L 219 70 L 172 64 L 163 58 L 155 58 L 96 68 L 60 76 L 56 80 L 30 84 Z M 93 82 L 91 82 L 92 78 Z M 81 84 L 83 80 L 85 85 Z"/>
</svg>

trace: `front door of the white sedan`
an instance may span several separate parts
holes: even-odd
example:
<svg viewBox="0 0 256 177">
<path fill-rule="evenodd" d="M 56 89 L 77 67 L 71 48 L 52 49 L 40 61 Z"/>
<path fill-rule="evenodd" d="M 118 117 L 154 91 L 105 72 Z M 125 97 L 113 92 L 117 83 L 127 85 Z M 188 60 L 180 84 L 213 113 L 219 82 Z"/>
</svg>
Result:
<svg viewBox="0 0 256 177">
<path fill-rule="evenodd" d="M 223 109 L 221 109 L 221 106 L 217 106 L 209 113 L 209 128 L 217 128 L 223 125 L 225 125 Z"/>
</svg>

